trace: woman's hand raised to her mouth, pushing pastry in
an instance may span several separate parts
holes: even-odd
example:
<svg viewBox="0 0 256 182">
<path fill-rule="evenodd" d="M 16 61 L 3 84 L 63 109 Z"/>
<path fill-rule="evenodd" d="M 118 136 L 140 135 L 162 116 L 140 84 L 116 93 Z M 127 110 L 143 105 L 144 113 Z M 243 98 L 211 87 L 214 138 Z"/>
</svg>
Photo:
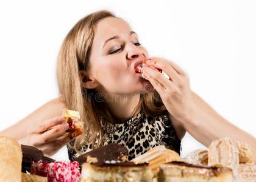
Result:
<svg viewBox="0 0 256 182">
<path fill-rule="evenodd" d="M 188 74 L 174 62 L 164 58 L 149 58 L 147 64 L 162 69 L 169 76 L 168 79 L 149 66 L 143 67 L 144 76 L 157 90 L 168 112 L 179 121 L 190 117 L 194 109 L 194 101 Z"/>
</svg>

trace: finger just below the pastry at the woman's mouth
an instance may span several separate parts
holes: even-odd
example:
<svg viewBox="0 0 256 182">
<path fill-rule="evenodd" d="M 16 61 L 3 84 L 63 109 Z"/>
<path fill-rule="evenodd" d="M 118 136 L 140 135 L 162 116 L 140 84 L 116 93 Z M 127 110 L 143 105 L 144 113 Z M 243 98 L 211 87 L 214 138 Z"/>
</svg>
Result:
<svg viewBox="0 0 256 182">
<path fill-rule="evenodd" d="M 146 75 L 146 77 L 152 77 L 154 78 L 162 87 L 163 90 L 172 90 L 172 87 L 175 87 L 174 83 L 167 79 L 165 76 L 162 75 L 162 73 L 158 72 L 157 70 L 152 69 L 151 67 L 144 66 L 143 67 L 143 73 Z M 152 80 L 154 81 L 154 80 Z"/>
</svg>

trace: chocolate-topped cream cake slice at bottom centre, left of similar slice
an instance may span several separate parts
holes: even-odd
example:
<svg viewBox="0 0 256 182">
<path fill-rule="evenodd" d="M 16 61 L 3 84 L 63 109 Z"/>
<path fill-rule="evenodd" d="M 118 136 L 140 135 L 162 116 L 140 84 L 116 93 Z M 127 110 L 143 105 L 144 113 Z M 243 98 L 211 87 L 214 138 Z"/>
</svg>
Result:
<svg viewBox="0 0 256 182">
<path fill-rule="evenodd" d="M 129 161 L 105 161 L 105 163 L 82 164 L 81 182 L 118 182 L 118 181 L 153 181 L 148 164 L 135 164 Z"/>
</svg>

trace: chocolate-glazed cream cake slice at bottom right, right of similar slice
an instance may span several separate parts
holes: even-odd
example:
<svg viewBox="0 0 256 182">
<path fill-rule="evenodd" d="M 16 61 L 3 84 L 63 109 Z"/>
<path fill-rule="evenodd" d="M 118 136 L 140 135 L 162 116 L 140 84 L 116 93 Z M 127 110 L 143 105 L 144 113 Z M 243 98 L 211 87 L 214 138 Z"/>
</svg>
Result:
<svg viewBox="0 0 256 182">
<path fill-rule="evenodd" d="M 234 181 L 232 169 L 228 167 L 209 167 L 171 162 L 162 164 L 158 182 L 231 182 Z"/>
</svg>

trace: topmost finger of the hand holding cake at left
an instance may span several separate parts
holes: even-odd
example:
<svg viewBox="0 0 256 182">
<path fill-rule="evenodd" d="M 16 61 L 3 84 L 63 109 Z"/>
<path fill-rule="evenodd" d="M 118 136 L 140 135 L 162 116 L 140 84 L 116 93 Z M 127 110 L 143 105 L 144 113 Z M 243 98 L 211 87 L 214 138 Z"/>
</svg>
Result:
<svg viewBox="0 0 256 182">
<path fill-rule="evenodd" d="M 50 118 L 48 120 L 41 121 L 36 126 L 33 126 L 31 132 L 32 133 L 43 133 L 46 130 L 49 130 L 51 127 L 56 126 L 58 124 L 62 124 L 64 122 L 64 116 L 56 116 L 54 118 Z"/>
</svg>

